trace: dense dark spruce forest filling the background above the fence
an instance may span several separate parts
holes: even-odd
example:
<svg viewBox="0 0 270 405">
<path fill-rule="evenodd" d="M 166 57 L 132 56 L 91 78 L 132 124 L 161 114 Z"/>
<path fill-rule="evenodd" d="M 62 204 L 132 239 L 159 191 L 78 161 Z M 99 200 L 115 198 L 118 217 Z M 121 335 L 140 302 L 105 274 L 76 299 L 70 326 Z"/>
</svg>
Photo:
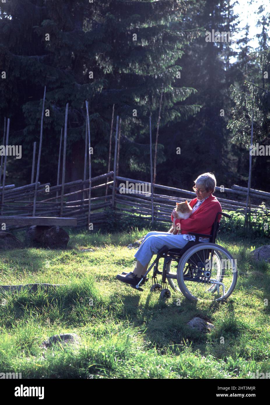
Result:
<svg viewBox="0 0 270 405">
<path fill-rule="evenodd" d="M 162 95 L 156 183 L 190 190 L 206 171 L 218 185 L 247 187 L 251 119 L 254 143 L 269 143 L 270 67 L 262 6 L 251 49 L 249 25 L 236 46 L 206 41 L 212 30 L 238 32 L 229 0 L 13 0 L 0 3 L 0 139 L 4 117 L 11 157 L 7 183 L 29 183 L 39 141 L 44 86 L 40 181 L 56 182 L 65 107 L 69 103 L 66 181 L 83 177 L 89 101 L 92 176 L 108 167 L 111 117 L 121 118 L 119 175 L 150 181 Z M 4 72 L 4 74 L 3 74 Z M 114 136 L 113 136 L 114 138 Z M 180 147 L 181 153 L 176 153 Z M 270 157 L 254 156 L 251 188 L 270 191 Z"/>
</svg>

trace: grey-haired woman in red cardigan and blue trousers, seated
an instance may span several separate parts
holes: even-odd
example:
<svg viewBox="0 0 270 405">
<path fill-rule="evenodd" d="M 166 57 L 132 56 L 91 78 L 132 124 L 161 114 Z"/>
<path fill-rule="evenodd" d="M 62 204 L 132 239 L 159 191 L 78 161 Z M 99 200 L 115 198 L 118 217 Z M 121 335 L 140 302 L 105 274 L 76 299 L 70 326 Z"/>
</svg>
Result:
<svg viewBox="0 0 270 405">
<path fill-rule="evenodd" d="M 157 231 L 148 232 L 134 255 L 137 259 L 134 271 L 126 275 L 118 274 L 116 276 L 117 280 L 136 286 L 141 276 L 147 271 L 152 256 L 157 254 L 159 249 L 164 245 L 169 248 L 182 249 L 188 241 L 195 241 L 195 236 L 189 235 L 189 232 L 209 235 L 217 213 L 221 212 L 219 201 L 212 195 L 216 185 L 217 182 L 212 173 L 203 173 L 197 177 L 195 186 L 193 187 L 197 198 L 194 198 L 189 203 L 192 207 L 190 217 L 187 220 L 179 220 L 176 218 L 175 209 L 172 211 L 171 220 L 176 226 L 180 224 L 181 234 L 173 235 L 168 232 Z M 199 238 L 199 242 L 208 241 L 208 238 Z M 142 281 L 143 283 L 144 281 Z"/>
</svg>

